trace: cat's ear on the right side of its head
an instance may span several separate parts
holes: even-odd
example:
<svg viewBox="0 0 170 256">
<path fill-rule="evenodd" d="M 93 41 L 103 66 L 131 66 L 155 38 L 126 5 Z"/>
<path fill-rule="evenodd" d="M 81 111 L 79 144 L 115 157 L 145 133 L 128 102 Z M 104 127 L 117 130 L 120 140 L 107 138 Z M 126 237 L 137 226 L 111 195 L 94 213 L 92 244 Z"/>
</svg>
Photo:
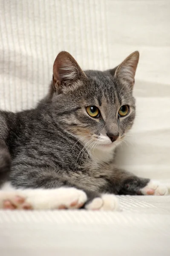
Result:
<svg viewBox="0 0 170 256">
<path fill-rule="evenodd" d="M 111 74 L 114 74 L 121 82 L 129 84 L 133 87 L 135 82 L 135 73 L 139 61 L 139 52 L 133 52 L 130 54 L 118 67 L 113 70 L 109 70 Z"/>
</svg>

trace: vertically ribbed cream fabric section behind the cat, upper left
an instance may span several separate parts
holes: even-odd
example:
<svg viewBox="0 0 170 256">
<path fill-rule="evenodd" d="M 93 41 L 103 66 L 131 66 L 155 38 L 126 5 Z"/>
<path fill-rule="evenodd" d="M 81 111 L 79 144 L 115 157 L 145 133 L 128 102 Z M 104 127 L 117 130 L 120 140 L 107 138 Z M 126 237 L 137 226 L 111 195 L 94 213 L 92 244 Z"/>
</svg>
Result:
<svg viewBox="0 0 170 256">
<path fill-rule="evenodd" d="M 0 108 L 30 108 L 42 98 L 61 50 L 83 68 L 109 67 L 106 2 L 0 1 Z"/>
</svg>

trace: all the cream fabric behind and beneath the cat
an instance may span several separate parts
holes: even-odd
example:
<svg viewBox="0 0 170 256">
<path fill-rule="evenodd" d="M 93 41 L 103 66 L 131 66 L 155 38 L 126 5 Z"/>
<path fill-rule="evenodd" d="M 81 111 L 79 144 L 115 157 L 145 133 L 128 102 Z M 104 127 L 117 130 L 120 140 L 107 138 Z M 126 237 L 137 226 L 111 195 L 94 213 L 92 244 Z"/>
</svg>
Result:
<svg viewBox="0 0 170 256">
<path fill-rule="evenodd" d="M 69 51 L 83 69 L 139 50 L 137 118 L 119 166 L 170 186 L 170 1 L 0 0 L 0 108 L 35 106 Z M 0 212 L 0 255 L 170 255 L 170 197 L 120 197 L 121 213 Z"/>
</svg>

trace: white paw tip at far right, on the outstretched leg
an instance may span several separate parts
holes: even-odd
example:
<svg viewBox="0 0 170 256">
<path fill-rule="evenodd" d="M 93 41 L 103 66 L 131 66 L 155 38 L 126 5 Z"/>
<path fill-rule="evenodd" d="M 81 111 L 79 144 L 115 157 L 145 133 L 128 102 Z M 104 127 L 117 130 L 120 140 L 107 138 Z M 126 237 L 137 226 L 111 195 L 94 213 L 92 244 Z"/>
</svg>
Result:
<svg viewBox="0 0 170 256">
<path fill-rule="evenodd" d="M 167 195 L 168 189 L 158 181 L 150 180 L 150 182 L 141 189 L 143 195 Z"/>
</svg>

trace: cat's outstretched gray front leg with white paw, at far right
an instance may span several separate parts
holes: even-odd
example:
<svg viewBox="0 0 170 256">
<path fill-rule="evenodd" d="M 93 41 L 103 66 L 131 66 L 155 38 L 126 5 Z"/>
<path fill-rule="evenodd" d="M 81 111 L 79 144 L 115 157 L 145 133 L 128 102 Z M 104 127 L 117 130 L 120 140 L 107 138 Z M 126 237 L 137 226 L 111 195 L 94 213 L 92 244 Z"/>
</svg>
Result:
<svg viewBox="0 0 170 256">
<path fill-rule="evenodd" d="M 158 181 L 137 177 L 130 172 L 114 169 L 112 184 L 109 183 L 108 190 L 112 185 L 119 195 L 167 195 L 168 189 Z"/>
</svg>

